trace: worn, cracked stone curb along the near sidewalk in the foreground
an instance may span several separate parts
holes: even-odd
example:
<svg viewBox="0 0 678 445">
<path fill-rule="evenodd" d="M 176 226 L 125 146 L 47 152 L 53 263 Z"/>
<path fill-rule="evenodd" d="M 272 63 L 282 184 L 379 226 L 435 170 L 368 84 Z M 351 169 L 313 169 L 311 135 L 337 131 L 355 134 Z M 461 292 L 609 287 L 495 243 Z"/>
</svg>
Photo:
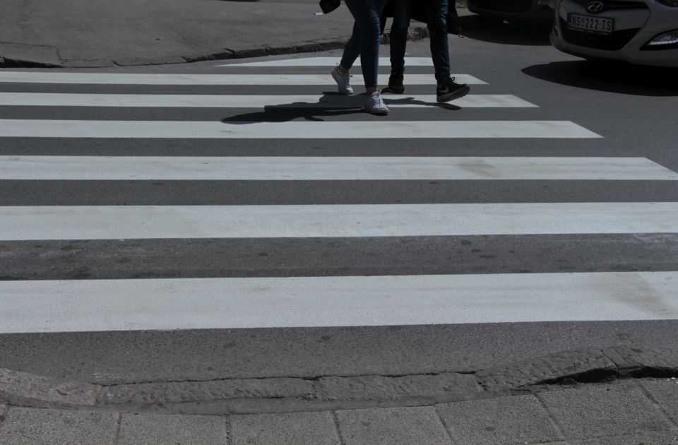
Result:
<svg viewBox="0 0 678 445">
<path fill-rule="evenodd" d="M 586 348 L 476 372 L 317 376 L 101 386 L 0 369 L 0 404 L 121 413 L 283 413 L 451 403 L 548 391 L 569 382 L 678 376 L 678 351 Z"/>
</svg>

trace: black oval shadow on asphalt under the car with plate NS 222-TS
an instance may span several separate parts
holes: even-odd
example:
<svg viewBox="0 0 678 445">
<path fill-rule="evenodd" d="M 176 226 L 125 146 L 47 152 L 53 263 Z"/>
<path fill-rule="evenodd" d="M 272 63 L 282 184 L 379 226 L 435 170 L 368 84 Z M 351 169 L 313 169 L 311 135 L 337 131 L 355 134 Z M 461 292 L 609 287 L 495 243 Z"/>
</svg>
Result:
<svg viewBox="0 0 678 445">
<path fill-rule="evenodd" d="M 642 96 L 678 95 L 678 69 L 619 61 L 557 61 L 523 69 L 528 76 L 588 90 Z"/>
</svg>

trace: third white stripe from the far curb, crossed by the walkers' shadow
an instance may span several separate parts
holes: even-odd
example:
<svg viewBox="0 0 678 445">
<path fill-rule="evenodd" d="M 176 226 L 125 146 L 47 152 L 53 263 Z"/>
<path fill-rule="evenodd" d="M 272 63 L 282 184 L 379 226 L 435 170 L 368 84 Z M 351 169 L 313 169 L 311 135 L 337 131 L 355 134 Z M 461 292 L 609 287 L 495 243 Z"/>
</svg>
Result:
<svg viewBox="0 0 678 445">
<path fill-rule="evenodd" d="M 431 107 L 435 95 L 383 95 L 393 108 Z M 362 108 L 364 95 L 141 95 L 0 93 L 0 105 L 32 107 L 210 107 L 210 108 Z M 446 104 L 440 104 L 446 105 Z M 465 108 L 537 107 L 513 95 L 468 95 L 452 105 Z"/>
</svg>

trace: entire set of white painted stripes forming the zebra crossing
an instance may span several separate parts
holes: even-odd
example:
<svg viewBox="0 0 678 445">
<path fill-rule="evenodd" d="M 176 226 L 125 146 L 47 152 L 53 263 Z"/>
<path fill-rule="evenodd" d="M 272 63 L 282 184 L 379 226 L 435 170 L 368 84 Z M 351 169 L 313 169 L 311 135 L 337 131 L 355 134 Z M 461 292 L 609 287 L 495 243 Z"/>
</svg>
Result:
<svg viewBox="0 0 678 445">
<path fill-rule="evenodd" d="M 430 63 L 429 58 L 422 59 Z M 325 60 L 299 60 L 304 60 L 302 66 L 328 63 Z M 256 64 L 268 62 L 273 61 L 241 66 L 264 66 Z M 415 63 L 410 61 L 409 65 Z M 331 64 L 335 64 L 334 59 Z M 484 83 L 472 76 L 455 76 L 464 83 Z M 381 76 L 379 81 L 386 83 L 387 77 Z M 239 76 L 57 71 L 2 71 L 0 82 L 333 85 L 327 74 Z M 432 75 L 408 76 L 408 84 L 434 83 Z M 391 107 L 424 107 L 434 102 L 434 97 L 428 95 L 385 96 L 385 99 Z M 0 93 L 0 105 L 268 106 L 286 109 L 358 107 L 362 106 L 362 98 Z M 536 107 L 512 95 L 470 95 L 453 105 Z M 571 121 L 222 123 L 4 119 L 0 120 L 0 137 L 393 139 L 602 136 Z M 2 156 L 0 179 L 677 180 L 678 174 L 646 158 Z M 7 241 L 649 232 L 678 232 L 678 203 L 0 207 L 0 239 Z M 678 319 L 678 297 L 674 292 L 677 282 L 678 272 L 0 281 L 0 306 L 3 308 L 0 333 Z M 568 292 L 562 292 L 563 289 Z"/>
</svg>

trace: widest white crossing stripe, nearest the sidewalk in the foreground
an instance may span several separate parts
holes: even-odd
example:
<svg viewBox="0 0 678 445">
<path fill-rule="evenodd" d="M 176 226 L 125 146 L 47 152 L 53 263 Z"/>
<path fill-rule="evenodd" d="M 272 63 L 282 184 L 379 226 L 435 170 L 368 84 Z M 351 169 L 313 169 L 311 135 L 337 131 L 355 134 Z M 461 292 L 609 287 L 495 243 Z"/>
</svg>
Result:
<svg viewBox="0 0 678 445">
<path fill-rule="evenodd" d="M 678 319 L 677 272 L 0 281 L 0 333 Z"/>
</svg>

